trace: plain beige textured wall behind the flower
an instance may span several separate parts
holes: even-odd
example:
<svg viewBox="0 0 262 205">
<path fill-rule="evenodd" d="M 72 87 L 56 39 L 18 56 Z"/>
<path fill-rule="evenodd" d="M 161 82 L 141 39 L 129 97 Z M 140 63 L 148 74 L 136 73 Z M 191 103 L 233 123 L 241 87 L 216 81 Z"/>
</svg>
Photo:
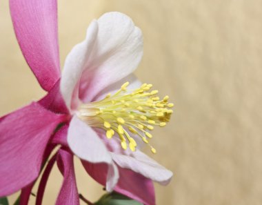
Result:
<svg viewBox="0 0 262 205">
<path fill-rule="evenodd" d="M 103 12 L 125 12 L 143 30 L 136 74 L 175 102 L 170 125 L 154 131 L 152 157 L 175 174 L 169 186 L 156 186 L 157 204 L 262 204 L 261 8 L 256 0 L 59 1 L 62 65 Z M 44 92 L 17 46 L 7 1 L 0 30 L 3 115 Z M 79 192 L 97 199 L 101 186 L 76 163 Z M 54 204 L 60 185 L 54 170 L 44 204 Z"/>
</svg>

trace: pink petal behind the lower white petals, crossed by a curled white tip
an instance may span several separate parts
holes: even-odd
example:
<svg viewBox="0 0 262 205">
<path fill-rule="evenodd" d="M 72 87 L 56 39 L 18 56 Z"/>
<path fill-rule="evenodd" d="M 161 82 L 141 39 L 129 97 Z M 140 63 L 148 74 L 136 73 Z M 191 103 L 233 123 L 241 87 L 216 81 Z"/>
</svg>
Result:
<svg viewBox="0 0 262 205">
<path fill-rule="evenodd" d="M 88 174 L 97 182 L 105 186 L 108 172 L 107 164 L 91 164 L 81 161 Z M 146 179 L 132 170 L 118 167 L 119 182 L 114 187 L 123 195 L 135 199 L 145 205 L 155 205 L 154 185 L 150 179 Z"/>
</svg>

